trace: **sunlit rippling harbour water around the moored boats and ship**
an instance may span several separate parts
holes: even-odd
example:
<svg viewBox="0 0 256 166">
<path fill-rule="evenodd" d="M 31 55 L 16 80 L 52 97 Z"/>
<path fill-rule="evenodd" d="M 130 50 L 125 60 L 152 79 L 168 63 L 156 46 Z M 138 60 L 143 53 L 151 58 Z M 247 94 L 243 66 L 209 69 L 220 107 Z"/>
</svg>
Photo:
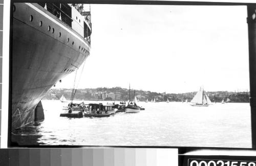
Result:
<svg viewBox="0 0 256 166">
<path fill-rule="evenodd" d="M 140 102 L 145 110 L 139 113 L 59 117 L 67 104 L 42 101 L 45 121 L 13 131 L 12 141 L 18 140 L 19 145 L 251 148 L 249 103 L 193 107 L 181 102 Z"/>
</svg>

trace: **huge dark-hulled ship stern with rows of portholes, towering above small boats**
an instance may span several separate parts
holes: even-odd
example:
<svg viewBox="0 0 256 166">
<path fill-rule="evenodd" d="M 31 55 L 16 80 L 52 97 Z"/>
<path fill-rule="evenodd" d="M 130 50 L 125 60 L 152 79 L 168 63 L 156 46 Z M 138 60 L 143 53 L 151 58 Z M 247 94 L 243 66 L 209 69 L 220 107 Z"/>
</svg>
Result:
<svg viewBox="0 0 256 166">
<path fill-rule="evenodd" d="M 44 120 L 40 100 L 88 58 L 91 27 L 81 4 L 13 4 L 12 130 Z"/>
</svg>

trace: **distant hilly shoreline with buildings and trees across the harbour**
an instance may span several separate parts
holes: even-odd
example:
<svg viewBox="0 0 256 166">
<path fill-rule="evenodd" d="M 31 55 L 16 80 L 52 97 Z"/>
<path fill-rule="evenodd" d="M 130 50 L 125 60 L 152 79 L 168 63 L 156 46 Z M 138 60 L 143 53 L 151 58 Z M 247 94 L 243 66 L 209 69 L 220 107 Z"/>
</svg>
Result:
<svg viewBox="0 0 256 166">
<path fill-rule="evenodd" d="M 67 100 L 70 99 L 72 93 L 72 89 L 51 89 L 49 90 L 44 100 L 59 100 L 62 94 L 65 96 Z M 104 93 L 104 95 L 102 94 Z M 111 97 L 107 97 L 107 94 L 112 94 Z M 159 102 L 168 101 L 169 102 L 185 102 L 187 100 L 190 102 L 195 94 L 195 92 L 186 92 L 186 93 L 158 93 L 151 91 L 143 91 L 143 90 L 134 90 L 131 89 L 131 96 L 129 97 L 129 89 L 121 88 L 121 87 L 113 87 L 113 88 L 86 88 L 86 89 L 77 89 L 74 100 L 97 100 L 97 101 L 127 101 L 134 99 L 135 96 L 139 101 L 148 102 L 152 100 L 157 100 Z M 222 100 L 225 102 L 228 99 L 228 103 L 249 103 L 250 93 L 248 91 L 243 92 L 230 92 L 230 91 L 207 91 L 206 92 L 211 102 L 220 103 Z M 103 95 L 103 96 L 102 96 Z M 93 98 L 92 98 L 93 97 Z"/>
</svg>

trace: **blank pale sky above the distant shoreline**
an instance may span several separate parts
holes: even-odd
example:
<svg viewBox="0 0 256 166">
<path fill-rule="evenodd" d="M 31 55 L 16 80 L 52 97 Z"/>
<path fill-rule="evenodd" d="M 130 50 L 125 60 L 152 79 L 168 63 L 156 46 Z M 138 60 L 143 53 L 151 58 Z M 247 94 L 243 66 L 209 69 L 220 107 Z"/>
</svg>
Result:
<svg viewBox="0 0 256 166">
<path fill-rule="evenodd" d="M 91 53 L 77 88 L 249 90 L 246 6 L 94 4 L 91 15 Z M 74 77 L 55 88 L 72 88 Z"/>
</svg>

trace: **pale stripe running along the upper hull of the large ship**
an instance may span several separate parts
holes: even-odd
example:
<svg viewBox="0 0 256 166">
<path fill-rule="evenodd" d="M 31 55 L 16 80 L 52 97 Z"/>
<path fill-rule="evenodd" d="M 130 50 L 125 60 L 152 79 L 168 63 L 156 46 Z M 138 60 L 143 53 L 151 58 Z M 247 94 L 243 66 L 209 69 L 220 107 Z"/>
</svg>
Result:
<svg viewBox="0 0 256 166">
<path fill-rule="evenodd" d="M 45 17 L 47 17 L 48 19 L 50 19 L 51 21 L 53 21 L 54 23 L 56 23 L 58 26 L 60 26 L 61 28 L 65 29 L 66 31 L 68 31 L 70 34 L 72 34 L 73 36 L 75 36 L 77 39 L 79 39 L 81 42 L 83 42 L 86 46 L 88 46 L 88 48 L 90 49 L 91 47 L 81 39 L 81 37 L 77 36 L 74 32 L 72 32 L 70 29 L 68 29 L 67 27 L 63 26 L 61 23 L 59 23 L 58 21 L 56 21 L 54 18 L 52 18 L 51 16 L 49 16 L 48 14 L 46 14 L 45 12 L 41 11 L 40 9 L 38 9 L 37 7 L 35 7 L 34 5 L 30 4 L 30 3 L 25 3 L 26 5 L 28 5 L 29 7 L 31 7 L 32 9 L 34 9 L 35 11 L 37 11 L 38 13 L 44 15 Z"/>
</svg>

